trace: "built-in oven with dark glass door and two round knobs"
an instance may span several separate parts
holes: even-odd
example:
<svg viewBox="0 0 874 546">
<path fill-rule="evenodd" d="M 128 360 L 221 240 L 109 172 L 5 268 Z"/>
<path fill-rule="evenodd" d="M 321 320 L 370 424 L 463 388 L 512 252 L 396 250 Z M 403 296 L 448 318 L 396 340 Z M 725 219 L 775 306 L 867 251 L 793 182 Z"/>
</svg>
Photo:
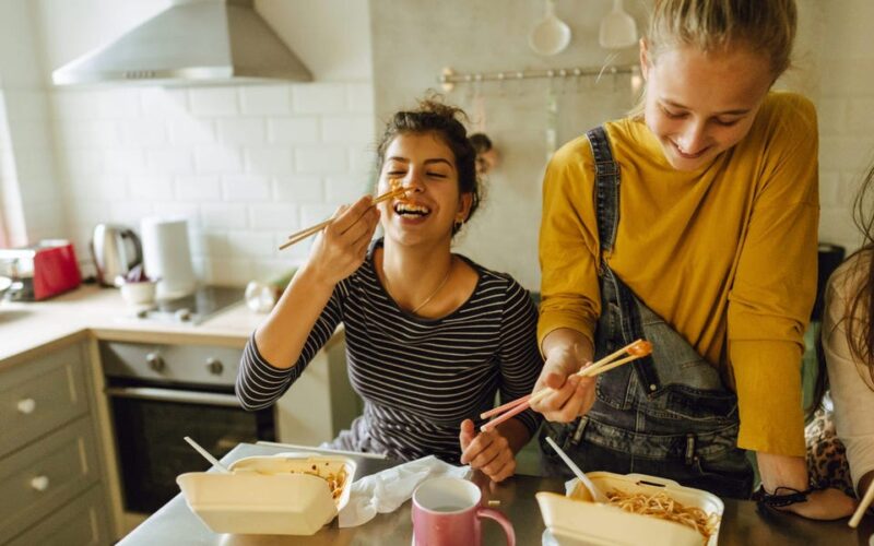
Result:
<svg viewBox="0 0 874 546">
<path fill-rule="evenodd" d="M 246 412 L 234 395 L 241 349 L 107 341 L 99 347 L 126 520 L 176 496 L 179 474 L 209 468 L 184 437 L 216 458 L 239 442 L 276 440 L 274 411 Z"/>
</svg>

